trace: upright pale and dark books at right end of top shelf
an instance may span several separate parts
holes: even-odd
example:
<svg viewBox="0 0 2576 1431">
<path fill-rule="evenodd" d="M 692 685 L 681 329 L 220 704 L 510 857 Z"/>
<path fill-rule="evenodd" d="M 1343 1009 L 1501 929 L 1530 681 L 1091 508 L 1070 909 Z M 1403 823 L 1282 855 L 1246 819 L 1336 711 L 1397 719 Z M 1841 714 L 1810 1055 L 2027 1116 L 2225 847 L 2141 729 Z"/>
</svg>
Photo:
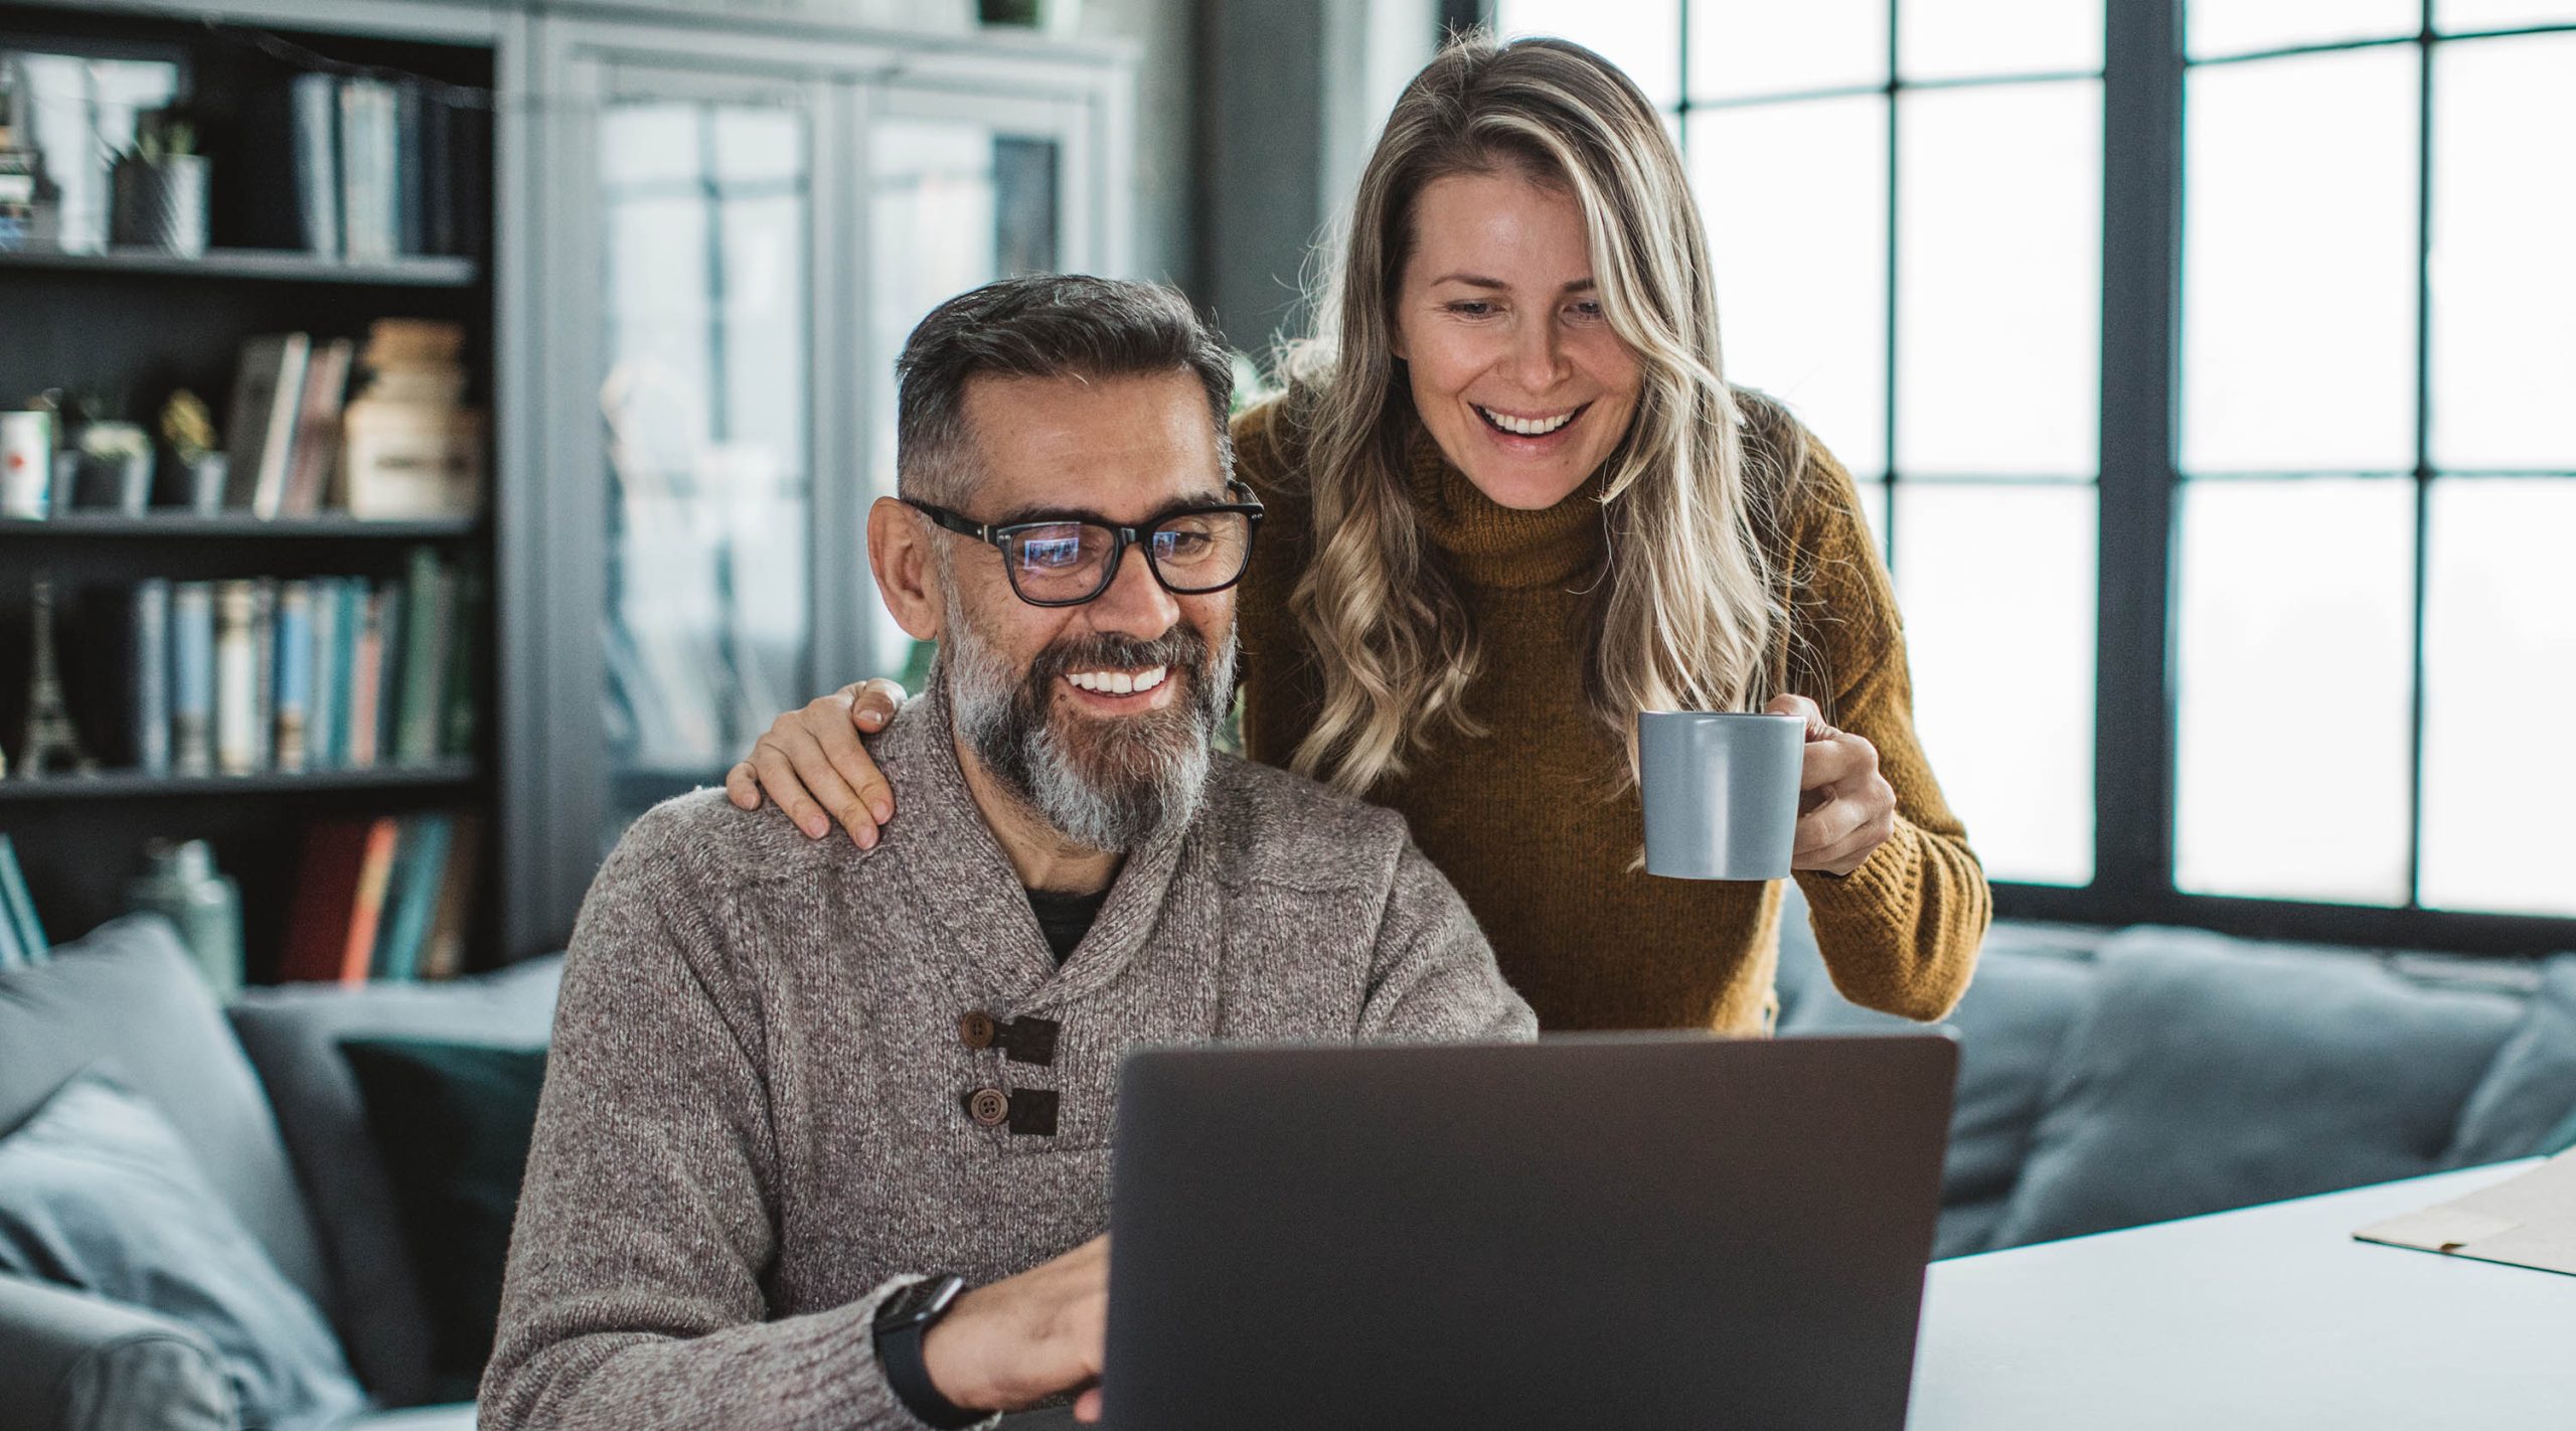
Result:
<svg viewBox="0 0 2576 1431">
<path fill-rule="evenodd" d="M 492 116 L 446 85 L 296 75 L 250 98 L 252 165 L 242 229 L 263 248 L 350 263 L 410 253 L 471 255 L 489 224 Z"/>
</svg>

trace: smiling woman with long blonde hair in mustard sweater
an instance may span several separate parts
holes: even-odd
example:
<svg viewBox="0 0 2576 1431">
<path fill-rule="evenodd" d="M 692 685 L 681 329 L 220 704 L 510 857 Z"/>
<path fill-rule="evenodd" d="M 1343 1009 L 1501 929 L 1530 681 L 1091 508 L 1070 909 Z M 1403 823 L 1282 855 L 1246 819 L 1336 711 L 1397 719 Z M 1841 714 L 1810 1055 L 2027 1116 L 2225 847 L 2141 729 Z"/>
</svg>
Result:
<svg viewBox="0 0 2576 1431">
<path fill-rule="evenodd" d="M 1450 44 L 1360 178 L 1321 333 L 1234 425 L 1270 508 L 1244 578 L 1244 745 L 1401 810 L 1548 1029 L 1762 1031 L 1770 884 L 1638 869 L 1636 714 L 1808 722 L 1795 877 L 1837 988 L 1968 985 L 1989 892 L 1914 737 L 1850 474 L 1728 387 L 1698 206 L 1597 54 Z M 726 789 L 860 846 L 858 743 L 902 691 L 778 717 Z"/>
</svg>

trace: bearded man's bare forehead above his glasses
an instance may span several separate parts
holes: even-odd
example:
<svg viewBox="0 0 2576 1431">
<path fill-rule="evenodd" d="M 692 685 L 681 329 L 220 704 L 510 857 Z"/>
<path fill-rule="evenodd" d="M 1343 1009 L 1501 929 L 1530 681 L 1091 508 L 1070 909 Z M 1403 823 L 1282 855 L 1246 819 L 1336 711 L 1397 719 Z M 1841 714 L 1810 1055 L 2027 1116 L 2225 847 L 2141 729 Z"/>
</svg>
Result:
<svg viewBox="0 0 2576 1431">
<path fill-rule="evenodd" d="M 1208 389 L 1193 374 L 966 379 L 984 521 L 1036 511 L 1141 518 L 1224 495 Z"/>
</svg>

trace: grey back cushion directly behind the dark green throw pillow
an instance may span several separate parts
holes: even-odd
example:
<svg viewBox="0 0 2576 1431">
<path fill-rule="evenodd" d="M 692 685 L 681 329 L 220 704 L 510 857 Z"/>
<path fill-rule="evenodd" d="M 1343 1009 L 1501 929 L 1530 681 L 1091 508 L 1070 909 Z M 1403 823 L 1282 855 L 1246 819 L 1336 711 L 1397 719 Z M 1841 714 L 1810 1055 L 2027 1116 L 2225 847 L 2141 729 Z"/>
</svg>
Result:
<svg viewBox="0 0 2576 1431">
<path fill-rule="evenodd" d="M 330 1248 L 332 1325 L 384 1405 L 433 1395 L 430 1312 L 340 1039 L 544 1044 L 562 972 L 562 957 L 546 957 L 448 982 L 252 988 L 232 1006 L 232 1026 L 278 1106 L 296 1178 Z"/>
</svg>

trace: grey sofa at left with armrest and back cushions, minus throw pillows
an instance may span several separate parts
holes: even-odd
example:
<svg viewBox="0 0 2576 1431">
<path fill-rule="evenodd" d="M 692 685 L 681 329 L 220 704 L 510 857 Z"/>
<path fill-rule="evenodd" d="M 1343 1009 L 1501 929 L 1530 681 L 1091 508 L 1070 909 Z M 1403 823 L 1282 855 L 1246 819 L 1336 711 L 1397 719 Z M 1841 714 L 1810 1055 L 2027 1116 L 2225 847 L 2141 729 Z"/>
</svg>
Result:
<svg viewBox="0 0 2576 1431">
<path fill-rule="evenodd" d="M 330 1318 L 379 1410 L 353 1431 L 469 1431 L 471 1405 L 415 1405 L 428 1315 L 366 1132 L 343 1037 L 541 1044 L 559 959 L 446 985 L 263 988 L 229 1011 L 175 931 L 137 915 L 0 975 L 0 1134 L 85 1067 L 180 1132 L 224 1207 Z M 227 1428 L 211 1348 L 170 1318 L 0 1276 L 0 1423 Z"/>
</svg>

